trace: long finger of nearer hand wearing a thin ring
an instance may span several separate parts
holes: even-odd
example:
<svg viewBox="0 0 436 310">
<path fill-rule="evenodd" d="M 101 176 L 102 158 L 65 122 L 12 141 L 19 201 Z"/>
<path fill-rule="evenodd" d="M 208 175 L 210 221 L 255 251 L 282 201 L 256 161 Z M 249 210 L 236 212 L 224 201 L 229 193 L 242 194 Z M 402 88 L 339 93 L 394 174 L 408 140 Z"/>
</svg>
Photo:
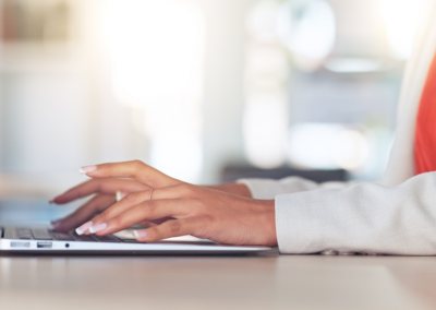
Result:
<svg viewBox="0 0 436 310">
<path fill-rule="evenodd" d="M 133 192 L 133 193 L 125 195 L 122 200 L 114 203 L 109 208 L 107 208 L 105 212 L 102 212 L 101 214 L 94 217 L 92 220 L 93 222 L 92 225 L 106 223 L 106 222 L 121 215 L 122 213 L 126 212 L 131 207 L 136 206 L 142 202 L 149 201 L 152 199 L 153 200 L 179 199 L 179 198 L 182 198 L 184 194 L 185 194 L 185 189 L 183 186 L 155 189 L 155 190 L 153 190 L 153 192 L 152 192 L 152 190 L 146 190 L 146 191 L 142 191 L 142 192 Z M 89 225 L 84 225 L 84 226 L 89 226 Z"/>
</svg>

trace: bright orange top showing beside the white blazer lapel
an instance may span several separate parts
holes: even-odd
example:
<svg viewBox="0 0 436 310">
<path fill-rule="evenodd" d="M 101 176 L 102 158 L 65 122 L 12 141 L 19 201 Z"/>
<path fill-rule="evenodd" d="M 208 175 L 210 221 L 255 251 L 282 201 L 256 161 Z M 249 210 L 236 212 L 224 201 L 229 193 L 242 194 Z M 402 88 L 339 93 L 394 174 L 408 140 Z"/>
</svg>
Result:
<svg viewBox="0 0 436 310">
<path fill-rule="evenodd" d="M 420 102 L 414 152 L 416 175 L 436 171 L 436 56 Z"/>
</svg>

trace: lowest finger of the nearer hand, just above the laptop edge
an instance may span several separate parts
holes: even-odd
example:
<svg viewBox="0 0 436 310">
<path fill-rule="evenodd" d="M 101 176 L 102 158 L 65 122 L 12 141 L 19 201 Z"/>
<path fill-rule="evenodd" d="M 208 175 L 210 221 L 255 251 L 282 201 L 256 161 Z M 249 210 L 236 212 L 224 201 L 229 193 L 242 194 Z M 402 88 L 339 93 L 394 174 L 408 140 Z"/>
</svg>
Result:
<svg viewBox="0 0 436 310">
<path fill-rule="evenodd" d="M 133 233 L 136 240 L 141 242 L 153 242 L 171 237 L 193 235 L 199 225 L 202 225 L 202 223 L 198 218 L 189 217 L 167 220 L 164 224 L 147 229 L 135 230 Z"/>
</svg>

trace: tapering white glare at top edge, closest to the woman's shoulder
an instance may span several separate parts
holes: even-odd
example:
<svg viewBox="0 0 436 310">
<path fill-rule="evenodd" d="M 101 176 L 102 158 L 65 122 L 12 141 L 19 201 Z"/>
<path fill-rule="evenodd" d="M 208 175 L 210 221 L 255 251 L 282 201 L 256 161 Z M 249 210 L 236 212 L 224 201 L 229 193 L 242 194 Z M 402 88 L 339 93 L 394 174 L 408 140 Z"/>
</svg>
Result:
<svg viewBox="0 0 436 310">
<path fill-rule="evenodd" d="M 395 58 L 409 58 L 423 0 L 383 0 L 388 41 Z"/>
</svg>

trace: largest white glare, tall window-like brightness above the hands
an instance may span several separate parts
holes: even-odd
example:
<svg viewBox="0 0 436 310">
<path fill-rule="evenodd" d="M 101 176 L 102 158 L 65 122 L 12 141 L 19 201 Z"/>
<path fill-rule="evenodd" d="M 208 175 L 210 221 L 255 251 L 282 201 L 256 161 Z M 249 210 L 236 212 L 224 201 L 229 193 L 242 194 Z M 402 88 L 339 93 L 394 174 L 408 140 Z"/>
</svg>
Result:
<svg viewBox="0 0 436 310">
<path fill-rule="evenodd" d="M 204 36 L 203 13 L 190 0 L 108 2 L 116 95 L 143 111 L 150 165 L 190 182 L 202 168 Z"/>
</svg>

